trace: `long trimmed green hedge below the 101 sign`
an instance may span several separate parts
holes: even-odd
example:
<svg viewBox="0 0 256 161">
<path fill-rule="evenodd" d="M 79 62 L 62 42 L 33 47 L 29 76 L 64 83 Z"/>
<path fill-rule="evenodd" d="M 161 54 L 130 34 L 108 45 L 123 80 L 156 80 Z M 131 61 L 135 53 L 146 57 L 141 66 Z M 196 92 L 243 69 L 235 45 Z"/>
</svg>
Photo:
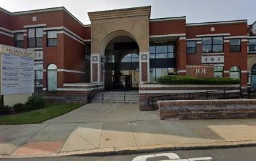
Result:
<svg viewBox="0 0 256 161">
<path fill-rule="evenodd" d="M 235 85 L 241 83 L 235 78 L 196 78 L 193 76 L 161 76 L 158 82 L 162 85 Z"/>
</svg>

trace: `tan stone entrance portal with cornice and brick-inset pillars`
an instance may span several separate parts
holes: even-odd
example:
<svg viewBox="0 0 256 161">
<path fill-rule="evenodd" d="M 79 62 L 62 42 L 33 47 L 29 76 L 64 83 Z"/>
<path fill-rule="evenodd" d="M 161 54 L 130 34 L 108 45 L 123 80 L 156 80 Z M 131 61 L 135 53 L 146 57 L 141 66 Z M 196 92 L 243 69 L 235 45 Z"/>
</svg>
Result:
<svg viewBox="0 0 256 161">
<path fill-rule="evenodd" d="M 139 83 L 147 83 L 150 80 L 150 64 L 149 64 L 149 18 L 150 18 L 150 7 L 139 7 L 133 9 L 124 9 L 124 10 L 111 10 L 111 11 L 100 11 L 100 12 L 92 12 L 88 13 L 91 20 L 91 83 L 97 83 L 100 86 L 103 86 L 109 79 L 107 76 L 109 74 L 106 73 L 109 68 L 105 68 L 106 63 L 106 48 L 108 50 L 109 43 L 112 41 L 117 41 L 119 43 L 127 43 L 125 41 L 131 40 L 129 42 L 135 42 L 137 44 L 136 48 L 113 48 L 112 50 L 119 50 L 122 52 L 121 54 L 112 54 L 112 55 L 123 55 L 121 59 L 119 58 L 113 62 L 115 64 L 115 69 L 122 70 L 124 64 L 131 65 L 132 68 L 126 68 L 125 71 L 120 71 L 112 73 L 110 77 L 119 77 L 123 76 L 123 81 L 129 84 L 129 76 L 131 74 L 126 74 L 127 70 L 133 70 L 131 72 L 139 70 L 137 74 L 139 75 Z M 125 45 L 129 46 L 129 45 Z M 131 45 L 132 46 L 132 45 Z M 139 50 L 138 50 L 139 49 Z M 126 50 L 126 51 L 121 51 Z M 127 52 L 129 50 L 129 52 Z M 136 50 L 133 52 L 132 50 Z M 138 51 L 137 51 L 138 50 Z M 130 54 L 130 55 L 129 55 Z M 109 54 L 107 54 L 109 55 Z M 129 59 L 135 59 L 136 62 L 129 61 Z M 123 60 L 123 61 L 122 61 Z M 139 60 L 139 62 L 137 62 Z M 129 61 L 129 62 L 125 62 Z M 118 63 L 121 64 L 118 64 Z M 107 62 L 108 63 L 108 62 Z M 123 64 L 122 64 L 123 63 Z M 134 69 L 133 64 L 136 64 L 136 68 Z M 139 68 L 137 68 L 137 64 L 139 64 Z M 126 66 L 127 67 L 127 66 Z M 135 73 L 136 74 L 136 73 Z M 128 75 L 125 77 L 125 75 Z M 136 76 L 137 77 L 137 76 Z M 116 78 L 116 80 L 121 78 Z M 137 81 L 137 80 L 136 80 Z M 113 81 L 112 81 L 113 82 Z M 134 81 L 133 81 L 134 83 Z M 130 83 L 131 86 L 135 87 L 133 83 Z M 111 84 L 111 83 L 110 83 Z M 114 83 L 112 83 L 114 84 Z M 120 83 L 117 83 L 120 84 Z M 125 85 L 125 87 L 127 87 Z M 114 87 L 115 85 L 110 85 Z M 119 85 L 117 85 L 118 87 Z M 105 86 L 106 87 L 106 86 Z"/>
</svg>

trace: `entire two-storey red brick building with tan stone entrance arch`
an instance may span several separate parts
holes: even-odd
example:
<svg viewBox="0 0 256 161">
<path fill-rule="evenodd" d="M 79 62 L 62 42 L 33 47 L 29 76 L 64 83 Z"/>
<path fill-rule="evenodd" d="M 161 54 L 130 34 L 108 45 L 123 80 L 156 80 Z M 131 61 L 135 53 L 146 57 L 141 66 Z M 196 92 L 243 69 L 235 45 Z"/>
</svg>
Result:
<svg viewBox="0 0 256 161">
<path fill-rule="evenodd" d="M 186 75 L 187 65 L 212 65 L 214 76 L 256 89 L 256 23 L 186 23 L 186 17 L 150 19 L 150 12 L 150 6 L 90 12 L 84 25 L 65 7 L 0 8 L 0 44 L 36 51 L 35 87 L 43 91 L 137 89 L 162 75 Z"/>
</svg>

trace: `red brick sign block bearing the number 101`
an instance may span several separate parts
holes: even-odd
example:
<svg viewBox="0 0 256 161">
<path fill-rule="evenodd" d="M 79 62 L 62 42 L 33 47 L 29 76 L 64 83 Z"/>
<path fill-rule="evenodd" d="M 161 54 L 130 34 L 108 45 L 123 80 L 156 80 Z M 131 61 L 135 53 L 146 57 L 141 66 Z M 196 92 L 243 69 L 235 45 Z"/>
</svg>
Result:
<svg viewBox="0 0 256 161">
<path fill-rule="evenodd" d="M 188 65 L 187 76 L 200 78 L 214 77 L 214 66 L 212 65 Z"/>
</svg>

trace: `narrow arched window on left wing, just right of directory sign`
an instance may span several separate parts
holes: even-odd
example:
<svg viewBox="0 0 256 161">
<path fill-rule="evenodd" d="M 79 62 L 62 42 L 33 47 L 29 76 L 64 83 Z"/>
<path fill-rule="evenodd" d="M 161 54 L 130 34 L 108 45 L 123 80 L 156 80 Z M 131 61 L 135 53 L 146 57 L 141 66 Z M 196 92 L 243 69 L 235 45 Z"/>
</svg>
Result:
<svg viewBox="0 0 256 161">
<path fill-rule="evenodd" d="M 47 68 L 47 91 L 57 91 L 57 66 L 50 64 Z"/>
</svg>

